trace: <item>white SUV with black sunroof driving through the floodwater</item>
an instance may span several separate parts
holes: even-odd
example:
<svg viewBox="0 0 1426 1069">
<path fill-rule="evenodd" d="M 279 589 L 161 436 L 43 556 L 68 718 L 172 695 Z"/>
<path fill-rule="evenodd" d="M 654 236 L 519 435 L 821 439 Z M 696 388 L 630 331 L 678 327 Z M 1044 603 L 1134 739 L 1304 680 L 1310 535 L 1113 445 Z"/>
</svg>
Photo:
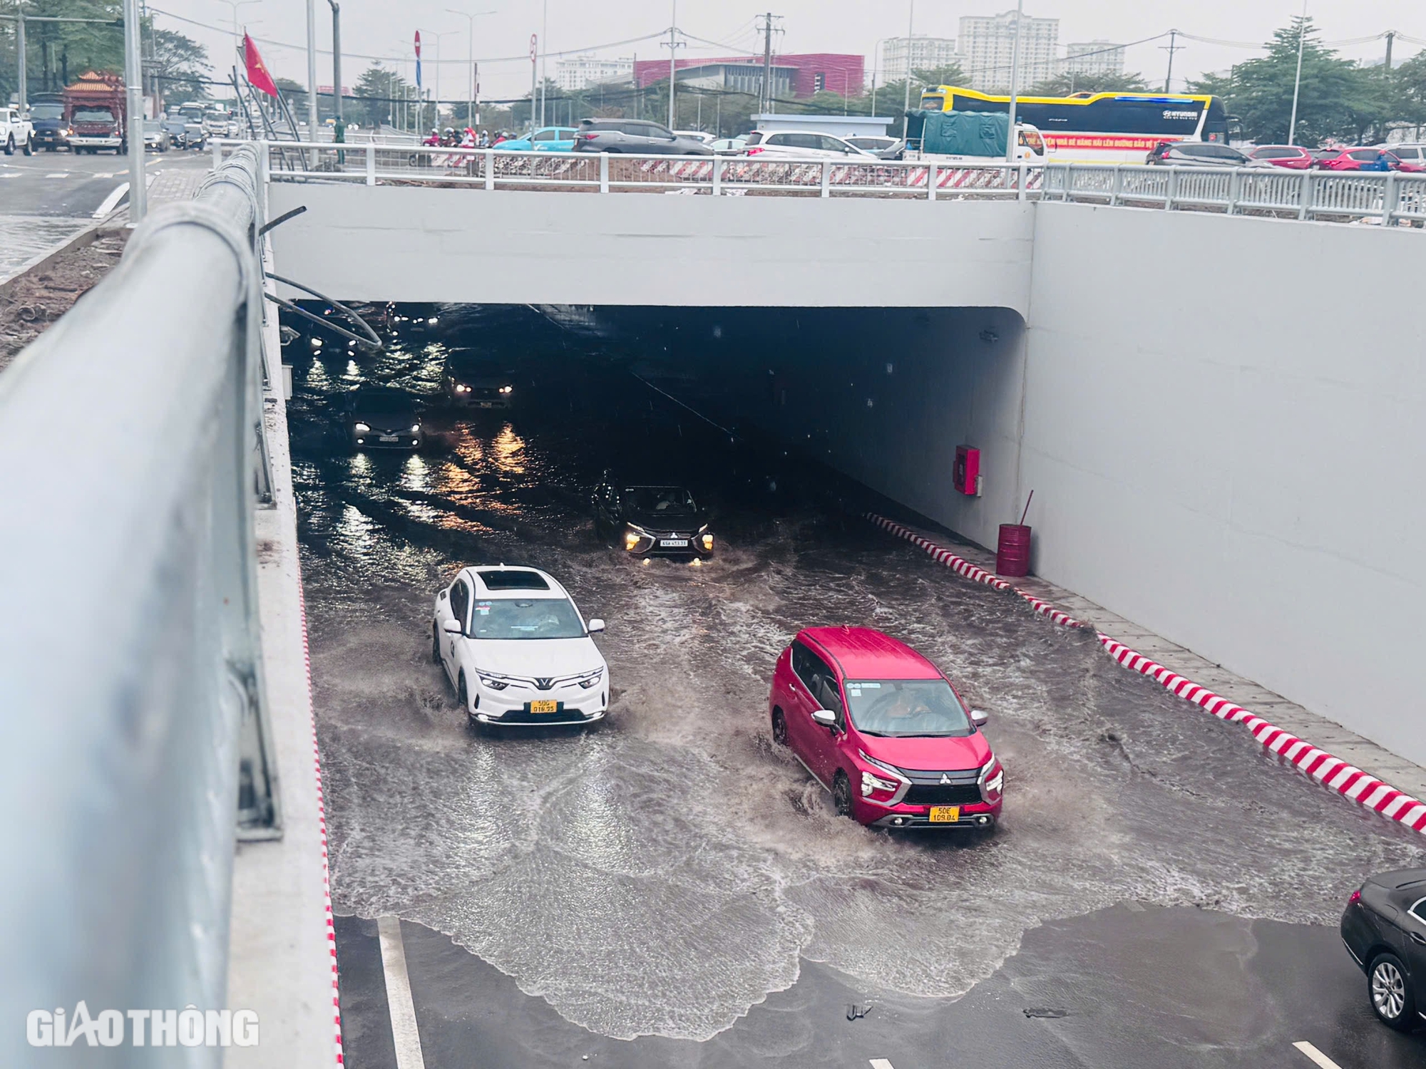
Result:
<svg viewBox="0 0 1426 1069">
<path fill-rule="evenodd" d="M 431 659 L 472 727 L 590 724 L 609 711 L 609 666 L 553 576 L 475 564 L 436 594 Z"/>
</svg>

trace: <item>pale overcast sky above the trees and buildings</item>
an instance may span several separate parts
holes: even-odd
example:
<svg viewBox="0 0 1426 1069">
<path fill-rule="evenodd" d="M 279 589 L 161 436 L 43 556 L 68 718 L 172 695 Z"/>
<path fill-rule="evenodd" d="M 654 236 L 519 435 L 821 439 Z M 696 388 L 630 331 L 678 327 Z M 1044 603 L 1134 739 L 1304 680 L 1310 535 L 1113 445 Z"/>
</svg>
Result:
<svg viewBox="0 0 1426 1069">
<path fill-rule="evenodd" d="M 656 40 L 630 38 L 656 34 L 670 23 L 667 0 L 341 0 L 342 50 L 347 60 L 342 81 L 351 87 L 371 60 L 358 54 L 406 57 L 395 61 L 408 78 L 412 34 L 421 30 L 425 64 L 424 84 L 436 84 L 436 34 L 441 37 L 441 95 L 458 98 L 466 88 L 466 27 L 468 20 L 451 14 L 458 9 L 472 14 L 495 9 L 473 20 L 475 56 L 481 64 L 481 93 L 486 98 L 519 95 L 529 90 L 530 67 L 523 57 L 529 51 L 532 33 L 540 31 L 542 9 L 548 3 L 549 51 L 585 50 L 596 46 L 600 56 L 633 56 L 639 58 L 667 57 L 667 47 Z M 937 37 L 955 37 L 958 19 L 965 14 L 994 14 L 1004 10 L 1005 0 L 918 0 L 914 31 Z M 231 64 L 231 36 L 208 30 L 163 13 L 184 16 L 210 26 L 230 26 L 230 0 L 158 0 L 158 26 L 180 30 L 205 44 L 214 67 L 227 73 Z M 154 7 L 150 7 L 153 11 Z M 331 13 L 325 0 L 317 0 L 317 43 L 331 48 Z M 838 51 L 861 53 L 868 57 L 868 70 L 877 54 L 877 40 L 904 36 L 907 31 L 907 0 L 677 0 L 677 26 L 689 34 L 717 41 L 733 48 L 690 41 L 680 48 L 682 56 L 716 56 L 729 51 L 761 51 L 761 40 L 754 29 L 759 14 L 771 10 L 780 14 L 774 48 L 783 53 Z M 1169 29 L 1219 41 L 1252 44 L 1266 40 L 1272 30 L 1283 26 L 1301 11 L 1299 3 L 1278 0 L 1194 0 L 1194 3 L 1159 3 L 1156 0 L 1027 0 L 1025 14 L 1060 19 L 1060 43 L 1105 38 L 1117 43 L 1137 41 Z M 1308 0 L 1308 14 L 1322 29 L 1328 41 L 1353 38 L 1397 30 L 1409 37 L 1426 40 L 1426 4 L 1420 0 Z M 307 40 L 307 6 L 302 0 L 248 0 L 237 9 L 238 26 L 247 26 L 260 38 L 264 58 L 277 76 L 307 83 L 305 53 L 297 48 L 264 44 L 281 41 L 301 46 Z M 617 44 L 620 41 L 627 41 Z M 1162 80 L 1168 53 L 1161 48 L 1166 40 L 1148 41 L 1131 47 L 1127 70 L 1139 71 L 1151 83 Z M 1182 41 L 1185 47 L 1174 60 L 1174 87 L 1182 88 L 1181 77 L 1195 77 L 1204 71 L 1226 70 L 1259 54 L 1252 47 Z M 1372 40 L 1340 47 L 1350 58 L 1380 61 L 1385 41 Z M 1393 64 L 1417 51 L 1417 46 L 1397 41 Z M 502 58 L 505 57 L 505 58 Z M 549 58 L 549 74 L 555 74 L 555 57 Z M 318 83 L 331 83 L 331 58 L 318 60 Z"/>
</svg>

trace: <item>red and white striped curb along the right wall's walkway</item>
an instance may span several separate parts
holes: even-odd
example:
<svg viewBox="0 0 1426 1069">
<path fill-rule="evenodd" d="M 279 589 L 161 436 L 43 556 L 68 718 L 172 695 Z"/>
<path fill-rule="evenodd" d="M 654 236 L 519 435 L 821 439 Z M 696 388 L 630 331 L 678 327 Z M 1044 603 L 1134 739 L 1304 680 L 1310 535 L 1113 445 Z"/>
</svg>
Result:
<svg viewBox="0 0 1426 1069">
<path fill-rule="evenodd" d="M 992 576 L 985 569 L 973 564 L 964 557 L 955 556 L 948 549 L 937 546 L 930 539 L 921 537 L 910 527 L 903 527 L 900 523 L 888 520 L 884 516 L 878 516 L 874 512 L 863 515 L 883 530 L 920 546 L 943 564 L 950 566 L 951 570 L 958 574 L 973 579 L 977 583 L 984 583 L 995 590 L 1011 590 L 1020 594 L 1031 606 L 1034 606 L 1035 611 L 1042 616 L 1048 616 L 1054 623 L 1064 624 L 1065 627 L 1087 626 L 1075 620 L 1068 613 L 1055 609 L 1048 601 L 1025 593 L 1011 583 L 1007 583 L 1004 579 Z M 1252 737 L 1256 738 L 1265 750 L 1272 753 L 1279 760 L 1286 761 L 1301 773 L 1312 777 L 1323 787 L 1336 791 L 1343 798 L 1372 810 L 1373 812 L 1379 812 L 1387 820 L 1405 824 L 1412 831 L 1426 832 L 1426 802 L 1422 802 L 1403 791 L 1397 791 L 1390 784 L 1382 783 L 1375 775 L 1363 773 L 1360 768 L 1348 764 L 1339 757 L 1333 757 L 1326 750 L 1319 750 L 1310 743 L 1298 738 L 1292 733 L 1268 723 L 1253 713 L 1249 713 L 1242 706 L 1236 706 L 1206 687 L 1201 687 L 1192 680 L 1165 668 L 1162 664 L 1149 660 L 1142 653 L 1138 653 L 1124 643 L 1111 639 L 1104 631 L 1097 630 L 1095 634 L 1098 636 L 1099 644 L 1104 647 L 1105 653 L 1114 657 L 1114 660 L 1125 668 L 1137 671 L 1141 676 L 1148 676 L 1169 693 L 1184 698 L 1185 701 L 1192 701 L 1195 706 L 1212 713 L 1219 720 L 1242 724 L 1249 733 L 1252 733 Z"/>
</svg>

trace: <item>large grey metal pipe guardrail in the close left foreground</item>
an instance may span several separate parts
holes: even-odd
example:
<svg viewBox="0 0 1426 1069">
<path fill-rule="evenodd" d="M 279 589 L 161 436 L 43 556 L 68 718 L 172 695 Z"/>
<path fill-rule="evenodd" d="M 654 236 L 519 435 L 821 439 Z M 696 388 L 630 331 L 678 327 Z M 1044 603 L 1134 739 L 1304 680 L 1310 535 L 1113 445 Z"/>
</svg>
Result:
<svg viewBox="0 0 1426 1069">
<path fill-rule="evenodd" d="M 238 148 L 155 211 L 0 375 L 7 1066 L 222 1058 L 37 1050 L 26 1019 L 224 1006 L 240 767 L 271 767 L 242 745 L 265 727 L 258 171 Z"/>
</svg>

